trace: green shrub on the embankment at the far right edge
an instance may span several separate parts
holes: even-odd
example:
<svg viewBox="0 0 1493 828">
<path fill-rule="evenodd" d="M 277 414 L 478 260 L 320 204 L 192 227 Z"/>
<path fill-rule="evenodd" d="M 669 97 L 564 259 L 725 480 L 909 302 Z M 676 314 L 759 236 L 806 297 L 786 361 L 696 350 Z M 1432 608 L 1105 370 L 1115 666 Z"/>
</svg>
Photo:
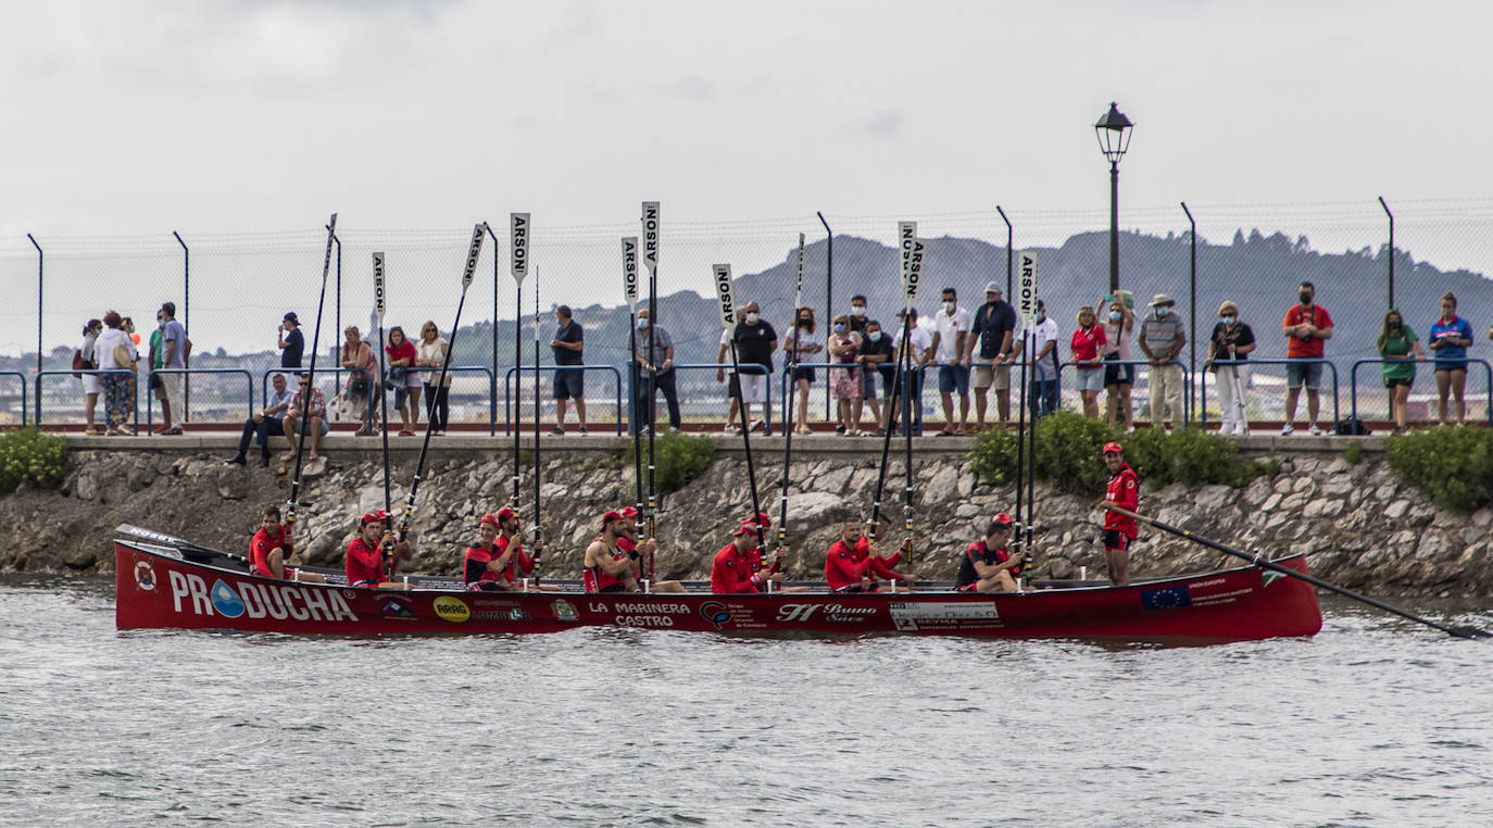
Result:
<svg viewBox="0 0 1493 828">
<path fill-rule="evenodd" d="M 1453 512 L 1493 501 L 1493 431 L 1442 425 L 1384 443 L 1390 468 Z"/>
</svg>

